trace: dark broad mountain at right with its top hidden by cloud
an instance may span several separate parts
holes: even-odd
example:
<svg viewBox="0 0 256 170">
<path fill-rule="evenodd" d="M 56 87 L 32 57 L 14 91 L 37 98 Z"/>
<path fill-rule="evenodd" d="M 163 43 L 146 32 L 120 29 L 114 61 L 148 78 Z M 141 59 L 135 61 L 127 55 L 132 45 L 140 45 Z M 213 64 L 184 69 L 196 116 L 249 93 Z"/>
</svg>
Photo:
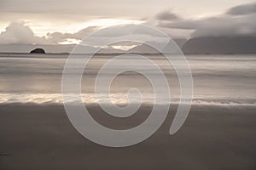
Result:
<svg viewBox="0 0 256 170">
<path fill-rule="evenodd" d="M 256 54 L 256 37 L 196 37 L 182 50 L 183 54 Z"/>
</svg>

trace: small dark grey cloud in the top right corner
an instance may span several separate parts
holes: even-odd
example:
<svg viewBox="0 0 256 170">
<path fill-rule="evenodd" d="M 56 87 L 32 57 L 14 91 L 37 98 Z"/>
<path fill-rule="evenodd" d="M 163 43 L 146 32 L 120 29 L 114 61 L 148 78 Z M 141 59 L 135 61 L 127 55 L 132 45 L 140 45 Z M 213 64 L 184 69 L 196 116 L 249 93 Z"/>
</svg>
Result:
<svg viewBox="0 0 256 170">
<path fill-rule="evenodd" d="M 231 15 L 256 14 L 256 3 L 242 4 L 227 11 Z"/>
</svg>

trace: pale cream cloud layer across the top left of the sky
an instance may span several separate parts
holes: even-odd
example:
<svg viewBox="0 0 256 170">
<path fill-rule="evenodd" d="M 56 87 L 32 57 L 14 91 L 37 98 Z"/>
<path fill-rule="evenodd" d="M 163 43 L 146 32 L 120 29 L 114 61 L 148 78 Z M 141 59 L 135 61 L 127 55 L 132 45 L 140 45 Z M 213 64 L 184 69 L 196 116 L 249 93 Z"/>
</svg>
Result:
<svg viewBox="0 0 256 170">
<path fill-rule="evenodd" d="M 149 0 L 147 3 L 137 0 L 1 0 L 0 15 L 6 20 L 26 18 L 55 22 L 60 20 L 84 22 L 98 18 L 134 19 L 147 16 L 156 7 L 168 3 L 166 0 L 161 3 L 154 0 Z M 142 10 L 145 8 L 146 10 Z"/>
</svg>

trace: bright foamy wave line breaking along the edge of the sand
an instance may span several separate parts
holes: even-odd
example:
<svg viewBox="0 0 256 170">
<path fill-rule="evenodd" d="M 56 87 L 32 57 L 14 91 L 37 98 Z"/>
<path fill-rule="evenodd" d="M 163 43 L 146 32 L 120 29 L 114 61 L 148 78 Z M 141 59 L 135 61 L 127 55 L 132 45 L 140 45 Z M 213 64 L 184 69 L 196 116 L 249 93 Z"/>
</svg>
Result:
<svg viewBox="0 0 256 170">
<path fill-rule="evenodd" d="M 115 105 L 127 105 L 128 103 L 142 102 L 145 104 L 170 105 L 179 104 L 179 98 L 160 99 L 158 103 L 154 102 L 154 94 L 143 94 L 143 99 L 130 97 L 127 94 L 117 93 L 102 95 L 96 98 L 95 94 L 81 94 L 80 97 L 67 95 L 66 102 L 75 104 L 80 101 L 84 104 L 97 104 L 99 102 L 108 104 L 111 101 Z M 110 100 L 109 100 L 110 99 Z M 171 100 L 171 101 L 170 101 Z M 170 101 L 170 102 L 168 102 Z M 0 94 L 0 104 L 38 104 L 38 105 L 62 105 L 62 94 Z M 256 99 L 213 99 L 207 96 L 194 97 L 192 105 L 226 105 L 226 106 L 256 106 Z"/>
</svg>

